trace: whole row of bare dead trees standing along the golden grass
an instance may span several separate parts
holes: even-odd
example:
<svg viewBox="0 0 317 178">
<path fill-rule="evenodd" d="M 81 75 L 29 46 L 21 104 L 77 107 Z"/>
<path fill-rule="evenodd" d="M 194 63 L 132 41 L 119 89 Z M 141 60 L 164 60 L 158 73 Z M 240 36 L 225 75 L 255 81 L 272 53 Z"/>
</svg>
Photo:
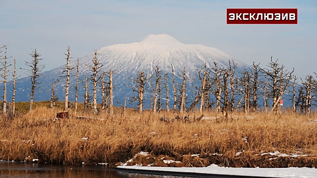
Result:
<svg viewBox="0 0 317 178">
<path fill-rule="evenodd" d="M 9 69 L 12 64 L 7 56 L 7 46 L 0 48 L 0 52 L 5 52 L 4 56 L 0 55 L 0 76 L 4 83 L 3 94 L 3 114 L 14 115 L 15 112 L 15 80 L 18 78 L 16 75 L 15 60 L 13 60 L 13 71 Z M 27 66 L 24 71 L 28 73 L 31 78 L 31 99 L 30 99 L 30 111 L 32 110 L 33 98 L 35 89 L 39 87 L 38 78 L 41 71 L 44 69 L 43 65 L 40 65 L 39 58 L 41 55 L 36 49 L 30 54 L 32 57 L 31 62 L 25 61 Z M 70 71 L 69 63 L 71 60 L 70 47 L 67 47 L 66 53 L 66 66 L 65 71 L 61 74 L 62 78 L 66 78 L 65 85 L 65 106 L 64 109 L 69 109 L 70 102 L 68 101 L 70 90 Z M 86 66 L 91 71 L 91 75 L 85 77 L 85 79 L 79 79 L 79 59 L 77 58 L 76 65 L 76 85 L 75 89 L 75 111 L 77 111 L 77 98 L 79 81 L 82 81 L 82 85 L 85 87 L 84 105 L 85 109 L 92 109 L 94 113 L 102 112 L 113 115 L 113 73 L 109 71 L 101 71 L 102 63 L 98 60 L 98 52 L 94 51 L 94 57 L 92 63 Z M 227 118 L 228 113 L 235 111 L 255 112 L 263 108 L 265 112 L 274 112 L 278 114 L 281 110 L 281 101 L 285 98 L 285 93 L 288 93 L 290 100 L 292 101 L 293 112 L 299 112 L 308 114 L 311 111 L 311 106 L 316 102 L 315 95 L 317 94 L 317 81 L 312 75 L 307 75 L 304 79 L 301 79 L 301 85 L 296 87 L 298 78 L 292 71 L 284 69 L 283 65 L 278 63 L 278 60 L 273 60 L 271 57 L 270 63 L 261 68 L 260 64 L 253 63 L 248 69 L 239 69 L 234 61 L 228 62 L 228 68 L 219 67 L 214 62 L 213 66 L 202 65 L 197 70 L 197 75 L 194 78 L 198 82 L 191 80 L 187 74 L 186 68 L 183 68 L 183 72 L 179 74 L 178 78 L 181 82 L 177 83 L 175 78 L 175 68 L 171 64 L 172 82 L 169 81 L 169 74 L 162 73 L 160 67 L 154 68 L 154 73 L 150 74 L 150 77 L 146 75 L 146 71 L 139 71 L 133 79 L 133 86 L 129 86 L 135 96 L 130 97 L 130 103 L 137 104 L 137 110 L 142 113 L 144 94 L 150 93 L 150 110 L 153 112 L 159 112 L 163 108 L 170 111 L 169 104 L 173 105 L 173 111 L 179 111 L 180 113 L 190 110 L 198 109 L 203 112 L 206 109 L 214 109 L 216 112 L 222 112 L 224 118 Z M 13 77 L 13 97 L 12 102 L 7 102 L 7 78 L 9 73 L 12 73 Z M 65 73 L 65 74 L 64 74 Z M 316 74 L 317 75 L 317 74 Z M 56 81 L 55 81 L 56 82 Z M 51 107 L 55 105 L 58 98 L 55 96 L 54 86 L 52 83 L 51 90 Z M 192 82 L 192 84 L 190 83 Z M 169 96 L 169 83 L 172 84 L 173 101 Z M 195 85 L 193 84 L 195 83 Z M 191 84 L 191 85 L 190 85 Z M 89 93 L 89 85 L 93 86 L 93 96 Z M 191 86 L 191 87 L 189 87 Z M 192 96 L 195 96 L 192 101 L 189 98 L 189 92 L 192 91 Z M 97 92 L 101 93 L 101 108 L 97 105 Z M 259 99 L 262 103 L 259 103 Z M 165 102 L 163 102 L 165 100 Z M 117 101 L 118 102 L 118 101 Z M 122 106 L 124 112 L 126 107 L 126 99 L 124 105 L 118 102 Z M 9 110 L 9 111 L 8 111 Z"/>
</svg>

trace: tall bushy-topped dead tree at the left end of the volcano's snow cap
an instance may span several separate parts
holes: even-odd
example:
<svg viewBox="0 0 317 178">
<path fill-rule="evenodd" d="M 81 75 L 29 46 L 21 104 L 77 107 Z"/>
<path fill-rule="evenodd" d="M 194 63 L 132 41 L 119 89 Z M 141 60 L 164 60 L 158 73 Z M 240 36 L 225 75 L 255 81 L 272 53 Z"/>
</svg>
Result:
<svg viewBox="0 0 317 178">
<path fill-rule="evenodd" d="M 93 66 L 89 66 L 86 64 L 86 66 L 89 67 L 89 70 L 92 72 L 91 77 L 89 78 L 93 83 L 93 110 L 95 113 L 97 113 L 97 83 L 100 79 L 99 72 L 100 68 L 103 66 L 97 58 L 97 50 L 94 51 L 94 57 L 92 59 Z"/>
</svg>

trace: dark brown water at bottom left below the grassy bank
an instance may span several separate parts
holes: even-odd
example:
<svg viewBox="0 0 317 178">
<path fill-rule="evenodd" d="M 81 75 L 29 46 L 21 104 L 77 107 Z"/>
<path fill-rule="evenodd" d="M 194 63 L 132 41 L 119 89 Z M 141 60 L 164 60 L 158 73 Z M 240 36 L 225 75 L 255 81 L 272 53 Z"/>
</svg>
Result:
<svg viewBox="0 0 317 178">
<path fill-rule="evenodd" d="M 0 177 L 118 177 L 118 178 L 141 178 L 141 177 L 180 177 L 166 175 L 149 175 L 139 173 L 122 172 L 105 166 L 74 166 L 74 165 L 51 165 L 38 163 L 7 162 L 0 161 Z M 184 176 L 183 176 L 184 177 Z"/>
</svg>

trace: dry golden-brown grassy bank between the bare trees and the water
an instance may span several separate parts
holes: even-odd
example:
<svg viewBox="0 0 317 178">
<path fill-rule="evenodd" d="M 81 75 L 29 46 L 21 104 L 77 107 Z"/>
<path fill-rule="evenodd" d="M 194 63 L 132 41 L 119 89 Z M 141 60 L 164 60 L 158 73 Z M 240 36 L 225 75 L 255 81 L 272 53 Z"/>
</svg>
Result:
<svg viewBox="0 0 317 178">
<path fill-rule="evenodd" d="M 192 118 L 191 123 L 167 123 L 160 117 L 177 113 L 145 111 L 140 115 L 127 110 L 124 117 L 115 110 L 113 117 L 81 112 L 77 116 L 87 118 L 52 120 L 60 111 L 59 107 L 50 109 L 43 104 L 12 121 L 2 117 L 0 159 L 59 164 L 107 162 L 110 166 L 121 162 L 188 167 L 317 167 L 315 114 L 234 113 L 228 122 L 217 122 L 220 114 L 205 112 L 200 122 Z M 73 110 L 70 115 L 75 116 Z"/>
</svg>

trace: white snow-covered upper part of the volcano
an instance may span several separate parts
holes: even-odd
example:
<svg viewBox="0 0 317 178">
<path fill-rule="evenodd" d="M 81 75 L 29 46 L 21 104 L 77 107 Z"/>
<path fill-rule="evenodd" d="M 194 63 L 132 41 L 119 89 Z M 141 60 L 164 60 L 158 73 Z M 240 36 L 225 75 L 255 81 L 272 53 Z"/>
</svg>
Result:
<svg viewBox="0 0 317 178">
<path fill-rule="evenodd" d="M 90 64 L 92 58 L 93 53 L 82 58 L 80 63 Z M 115 69 L 117 73 L 146 72 L 156 66 L 169 72 L 171 64 L 176 71 L 186 67 L 191 73 L 191 71 L 196 72 L 196 69 L 204 63 L 208 67 L 213 66 L 214 61 L 225 67 L 233 57 L 213 47 L 183 44 L 170 35 L 162 34 L 149 35 L 138 43 L 102 47 L 98 50 L 98 59 L 102 62 L 104 70 Z M 240 67 L 247 66 L 242 62 L 234 61 Z M 81 66 L 81 71 L 85 71 L 86 66 Z"/>
</svg>

